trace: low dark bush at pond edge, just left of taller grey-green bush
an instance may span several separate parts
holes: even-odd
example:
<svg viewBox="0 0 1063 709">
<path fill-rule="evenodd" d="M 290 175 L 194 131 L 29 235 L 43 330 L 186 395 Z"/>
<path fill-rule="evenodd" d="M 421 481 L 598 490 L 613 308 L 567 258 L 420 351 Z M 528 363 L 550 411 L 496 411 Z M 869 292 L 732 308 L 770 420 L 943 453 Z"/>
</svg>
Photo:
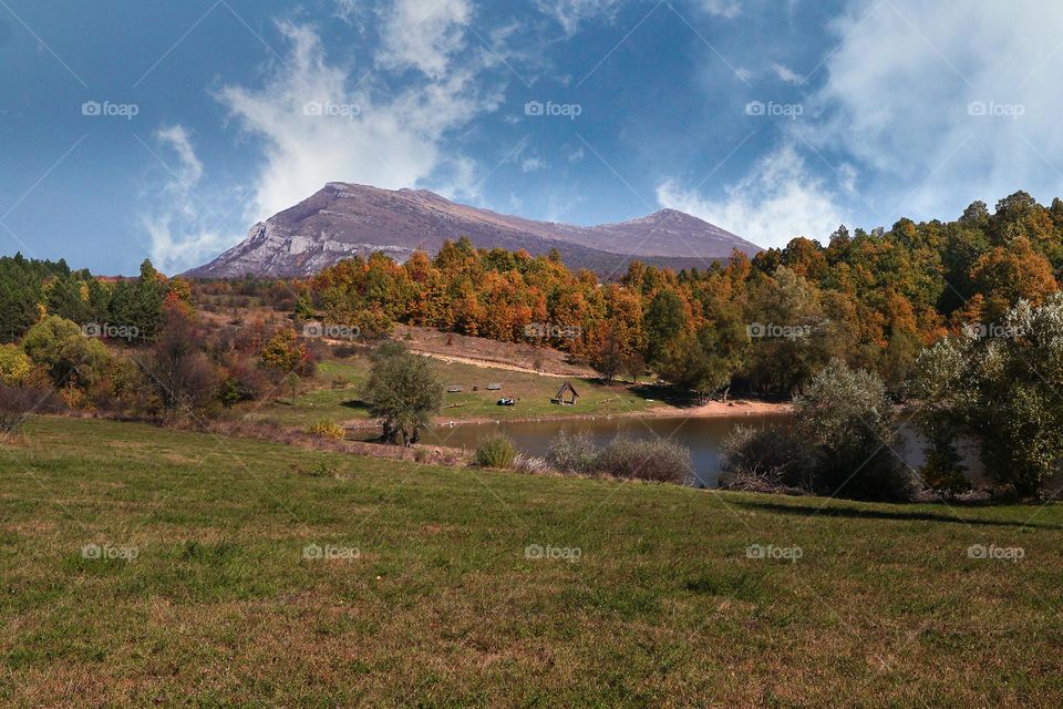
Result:
<svg viewBox="0 0 1063 709">
<path fill-rule="evenodd" d="M 723 441 L 721 470 L 729 487 L 809 490 L 811 450 L 791 429 L 737 425 Z"/>
</svg>

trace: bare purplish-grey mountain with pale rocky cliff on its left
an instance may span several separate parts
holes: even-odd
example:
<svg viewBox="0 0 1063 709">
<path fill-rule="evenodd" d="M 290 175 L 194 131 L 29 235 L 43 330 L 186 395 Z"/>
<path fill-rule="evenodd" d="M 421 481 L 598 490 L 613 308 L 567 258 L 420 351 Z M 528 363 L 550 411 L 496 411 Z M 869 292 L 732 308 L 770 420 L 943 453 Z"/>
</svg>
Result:
<svg viewBox="0 0 1063 709">
<path fill-rule="evenodd" d="M 426 189 L 381 189 L 332 182 L 296 206 L 259 222 L 247 238 L 216 259 L 189 270 L 195 278 L 246 274 L 298 277 L 354 255 L 383 251 L 402 261 L 421 249 L 434 254 L 444 239 L 467 236 L 479 248 L 558 249 L 574 268 L 605 278 L 633 258 L 672 268 L 704 268 L 731 250 L 760 247 L 674 209 L 599 226 L 535 222 L 451 202 Z"/>
</svg>

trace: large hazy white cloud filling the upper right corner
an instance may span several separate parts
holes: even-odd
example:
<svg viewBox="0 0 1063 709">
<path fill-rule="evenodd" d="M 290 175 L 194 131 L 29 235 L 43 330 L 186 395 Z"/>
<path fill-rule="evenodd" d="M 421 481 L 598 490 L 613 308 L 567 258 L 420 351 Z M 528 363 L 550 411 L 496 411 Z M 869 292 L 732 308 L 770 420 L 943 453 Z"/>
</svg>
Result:
<svg viewBox="0 0 1063 709">
<path fill-rule="evenodd" d="M 805 136 L 877 175 L 875 218 L 1060 192 L 1063 4 L 855 0 L 833 30 L 847 39 L 811 101 L 826 119 Z"/>
</svg>

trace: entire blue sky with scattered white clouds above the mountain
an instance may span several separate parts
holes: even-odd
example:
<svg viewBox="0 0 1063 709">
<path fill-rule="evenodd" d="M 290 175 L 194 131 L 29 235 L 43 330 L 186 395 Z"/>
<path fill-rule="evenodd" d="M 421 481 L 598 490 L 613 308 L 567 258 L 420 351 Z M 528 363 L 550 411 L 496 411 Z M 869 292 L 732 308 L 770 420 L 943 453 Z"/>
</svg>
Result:
<svg viewBox="0 0 1063 709">
<path fill-rule="evenodd" d="M 1063 194 L 1063 4 L 0 0 L 0 254 L 167 273 L 326 182 L 762 246 Z"/>
</svg>

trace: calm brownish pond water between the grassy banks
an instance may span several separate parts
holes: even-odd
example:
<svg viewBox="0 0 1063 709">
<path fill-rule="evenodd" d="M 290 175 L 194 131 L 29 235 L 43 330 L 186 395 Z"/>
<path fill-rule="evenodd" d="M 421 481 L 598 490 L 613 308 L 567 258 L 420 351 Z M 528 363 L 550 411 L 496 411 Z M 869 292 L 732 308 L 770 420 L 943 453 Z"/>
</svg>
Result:
<svg viewBox="0 0 1063 709">
<path fill-rule="evenodd" d="M 771 423 L 785 424 L 789 417 L 743 415 L 719 419 L 677 418 L 628 418 L 628 419 L 580 419 L 571 421 L 529 421 L 518 423 L 463 423 L 453 427 L 438 427 L 427 432 L 422 440 L 425 443 L 472 449 L 477 441 L 494 431 L 502 431 L 513 438 L 517 448 L 530 455 L 545 456 L 550 441 L 559 431 L 566 433 L 589 433 L 595 443 L 603 446 L 618 433 L 627 433 L 634 439 L 670 438 L 690 449 L 691 462 L 698 474 L 699 484 L 715 487 L 720 477 L 720 446 L 731 430 L 739 425 L 764 427 Z"/>
</svg>

